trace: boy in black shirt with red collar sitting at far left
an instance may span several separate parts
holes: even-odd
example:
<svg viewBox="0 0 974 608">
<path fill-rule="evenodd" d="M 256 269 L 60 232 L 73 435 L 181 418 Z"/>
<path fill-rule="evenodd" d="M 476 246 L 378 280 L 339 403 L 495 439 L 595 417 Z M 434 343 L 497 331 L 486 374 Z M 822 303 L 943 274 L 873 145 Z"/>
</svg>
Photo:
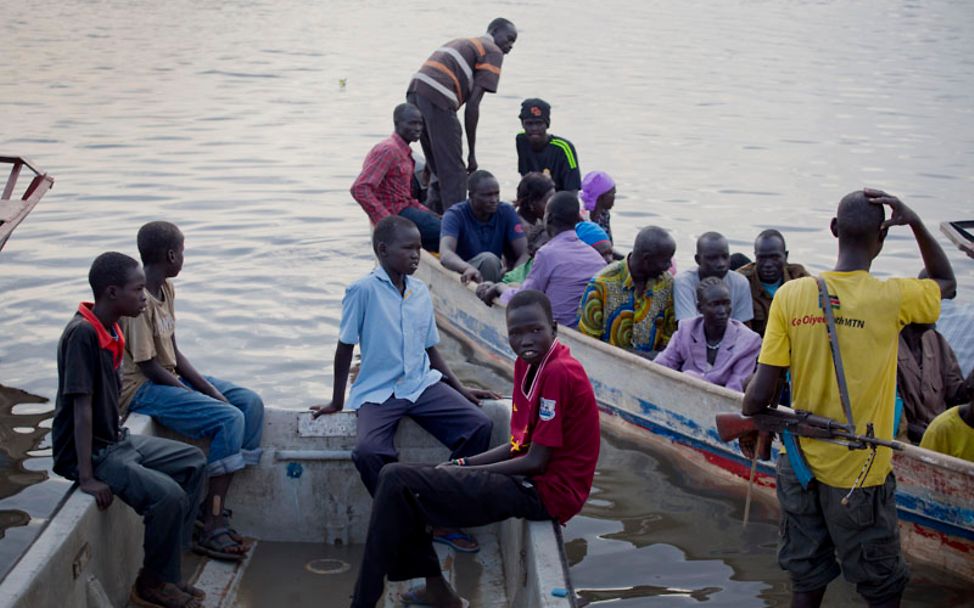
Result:
<svg viewBox="0 0 974 608">
<path fill-rule="evenodd" d="M 120 317 L 145 307 L 145 276 L 127 255 L 103 253 L 88 273 L 95 302 L 82 302 L 58 342 L 54 472 L 77 480 L 104 511 L 114 496 L 145 518 L 145 557 L 132 588 L 137 606 L 198 608 L 204 593 L 180 582 L 206 459 L 198 448 L 130 435 L 118 415 Z"/>
</svg>

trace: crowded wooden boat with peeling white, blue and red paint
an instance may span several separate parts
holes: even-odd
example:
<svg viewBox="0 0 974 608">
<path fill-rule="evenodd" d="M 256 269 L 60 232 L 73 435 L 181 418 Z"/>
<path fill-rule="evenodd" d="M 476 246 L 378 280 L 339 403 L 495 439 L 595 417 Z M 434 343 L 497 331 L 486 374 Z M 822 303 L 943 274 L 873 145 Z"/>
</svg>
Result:
<svg viewBox="0 0 974 608">
<path fill-rule="evenodd" d="M 504 308 L 488 308 L 455 273 L 424 252 L 416 276 L 432 293 L 437 323 L 480 356 L 511 369 Z M 595 387 L 603 428 L 675 451 L 709 478 L 746 483 L 747 460 L 735 443 L 722 442 L 719 412 L 739 412 L 741 393 L 656 365 L 622 349 L 559 328 L 559 338 L 585 365 Z M 773 450 L 777 455 L 777 450 Z M 906 555 L 974 581 L 974 463 L 907 446 L 894 457 L 897 511 Z M 756 494 L 774 500 L 774 465 L 762 462 Z"/>
</svg>

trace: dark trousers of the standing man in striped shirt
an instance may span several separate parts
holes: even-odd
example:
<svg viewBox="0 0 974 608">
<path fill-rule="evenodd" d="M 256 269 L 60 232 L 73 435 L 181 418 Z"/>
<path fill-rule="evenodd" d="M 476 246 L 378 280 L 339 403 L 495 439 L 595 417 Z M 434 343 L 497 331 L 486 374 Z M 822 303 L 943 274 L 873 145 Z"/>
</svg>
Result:
<svg viewBox="0 0 974 608">
<path fill-rule="evenodd" d="M 408 93 L 406 101 L 423 114 L 419 143 L 432 179 L 426 206 L 443 213 L 467 198 L 467 164 L 463 162 L 463 129 L 453 110 L 444 110 L 422 95 Z"/>
</svg>

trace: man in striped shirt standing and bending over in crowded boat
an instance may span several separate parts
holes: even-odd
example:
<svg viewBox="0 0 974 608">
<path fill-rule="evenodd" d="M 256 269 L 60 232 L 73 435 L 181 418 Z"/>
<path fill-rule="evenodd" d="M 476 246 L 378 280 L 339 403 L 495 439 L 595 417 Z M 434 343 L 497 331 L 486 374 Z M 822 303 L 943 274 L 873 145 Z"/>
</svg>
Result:
<svg viewBox="0 0 974 608">
<path fill-rule="evenodd" d="M 504 55 L 517 40 L 517 28 L 497 18 L 487 26 L 487 35 L 457 38 L 433 51 L 413 75 L 406 101 L 423 113 L 425 129 L 420 138 L 423 154 L 432 172 L 426 205 L 438 213 L 465 198 L 467 173 L 477 170 L 477 123 L 484 93 L 496 93 Z M 467 162 L 463 162 L 460 120 L 467 133 Z"/>
</svg>

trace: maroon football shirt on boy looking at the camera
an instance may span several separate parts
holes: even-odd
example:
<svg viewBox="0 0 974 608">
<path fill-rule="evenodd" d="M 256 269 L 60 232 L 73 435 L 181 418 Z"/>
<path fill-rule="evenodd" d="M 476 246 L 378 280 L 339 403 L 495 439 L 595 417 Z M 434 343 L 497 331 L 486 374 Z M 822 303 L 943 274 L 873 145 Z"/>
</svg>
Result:
<svg viewBox="0 0 974 608">
<path fill-rule="evenodd" d="M 555 340 L 525 386 L 528 364 L 514 363 L 511 452 L 532 442 L 551 448 L 545 472 L 533 478 L 548 513 L 567 522 L 582 510 L 599 459 L 599 409 L 585 368 Z"/>
</svg>

